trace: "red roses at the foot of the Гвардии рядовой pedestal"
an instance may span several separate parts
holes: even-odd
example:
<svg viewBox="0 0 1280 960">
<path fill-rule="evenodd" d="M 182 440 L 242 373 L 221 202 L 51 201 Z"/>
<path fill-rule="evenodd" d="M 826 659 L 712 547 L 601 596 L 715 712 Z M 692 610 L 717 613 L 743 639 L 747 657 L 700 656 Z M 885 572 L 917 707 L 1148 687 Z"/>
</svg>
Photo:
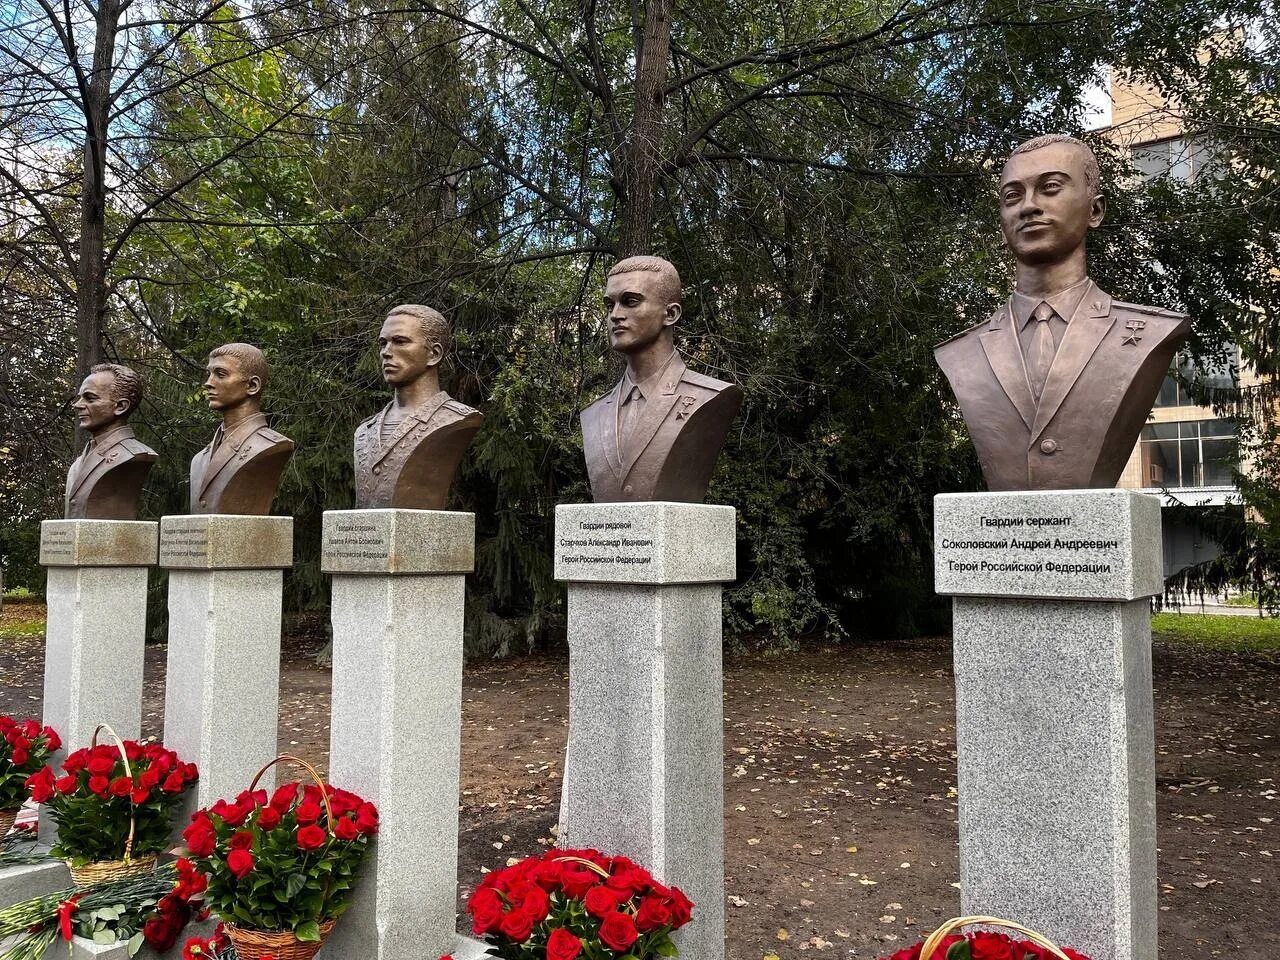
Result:
<svg viewBox="0 0 1280 960">
<path fill-rule="evenodd" d="M 471 928 L 507 960 L 675 956 L 671 932 L 694 905 L 625 856 L 549 850 L 485 874 L 467 901 Z"/>
</svg>

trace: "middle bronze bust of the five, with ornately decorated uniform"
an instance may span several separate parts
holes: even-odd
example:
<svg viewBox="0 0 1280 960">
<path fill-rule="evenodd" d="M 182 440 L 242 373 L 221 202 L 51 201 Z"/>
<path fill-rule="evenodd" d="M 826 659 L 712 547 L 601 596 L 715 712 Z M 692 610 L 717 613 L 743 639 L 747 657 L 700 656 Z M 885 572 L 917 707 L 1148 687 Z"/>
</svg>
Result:
<svg viewBox="0 0 1280 960">
<path fill-rule="evenodd" d="M 443 509 L 484 415 L 440 389 L 449 324 L 431 307 L 394 307 L 378 334 L 390 403 L 356 428 L 356 507 Z"/>
</svg>

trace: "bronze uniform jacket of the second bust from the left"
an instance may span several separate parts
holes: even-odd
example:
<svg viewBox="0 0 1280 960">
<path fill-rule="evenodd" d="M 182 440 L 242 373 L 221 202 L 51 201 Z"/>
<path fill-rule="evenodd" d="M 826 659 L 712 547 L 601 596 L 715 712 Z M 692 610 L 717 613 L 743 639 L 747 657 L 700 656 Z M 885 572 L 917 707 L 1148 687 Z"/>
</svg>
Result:
<svg viewBox="0 0 1280 960">
<path fill-rule="evenodd" d="M 215 435 L 216 439 L 216 435 Z M 192 513 L 247 513 L 265 516 L 271 509 L 293 440 L 252 413 L 191 461 Z"/>
</svg>

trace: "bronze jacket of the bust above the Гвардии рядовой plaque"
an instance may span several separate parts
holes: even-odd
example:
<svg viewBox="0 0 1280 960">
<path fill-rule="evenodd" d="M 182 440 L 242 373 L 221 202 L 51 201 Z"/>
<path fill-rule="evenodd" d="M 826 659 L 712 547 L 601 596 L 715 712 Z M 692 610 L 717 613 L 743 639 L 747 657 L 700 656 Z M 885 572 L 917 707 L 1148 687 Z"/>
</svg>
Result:
<svg viewBox="0 0 1280 960">
<path fill-rule="evenodd" d="M 596 503 L 699 503 L 730 424 L 742 406 L 735 384 L 695 374 L 677 353 L 646 396 L 625 444 L 618 442 L 622 380 L 582 411 L 582 451 Z"/>
</svg>

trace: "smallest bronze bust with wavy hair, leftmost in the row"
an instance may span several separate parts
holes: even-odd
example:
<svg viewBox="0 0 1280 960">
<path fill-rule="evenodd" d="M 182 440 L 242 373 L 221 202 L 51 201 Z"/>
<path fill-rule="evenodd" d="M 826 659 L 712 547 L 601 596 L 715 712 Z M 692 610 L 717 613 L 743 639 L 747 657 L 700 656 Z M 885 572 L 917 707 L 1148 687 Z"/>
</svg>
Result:
<svg viewBox="0 0 1280 960">
<path fill-rule="evenodd" d="M 72 407 L 90 442 L 67 472 L 68 520 L 137 520 L 138 494 L 159 457 L 133 435 L 142 378 L 119 364 L 90 369 Z"/>
</svg>

